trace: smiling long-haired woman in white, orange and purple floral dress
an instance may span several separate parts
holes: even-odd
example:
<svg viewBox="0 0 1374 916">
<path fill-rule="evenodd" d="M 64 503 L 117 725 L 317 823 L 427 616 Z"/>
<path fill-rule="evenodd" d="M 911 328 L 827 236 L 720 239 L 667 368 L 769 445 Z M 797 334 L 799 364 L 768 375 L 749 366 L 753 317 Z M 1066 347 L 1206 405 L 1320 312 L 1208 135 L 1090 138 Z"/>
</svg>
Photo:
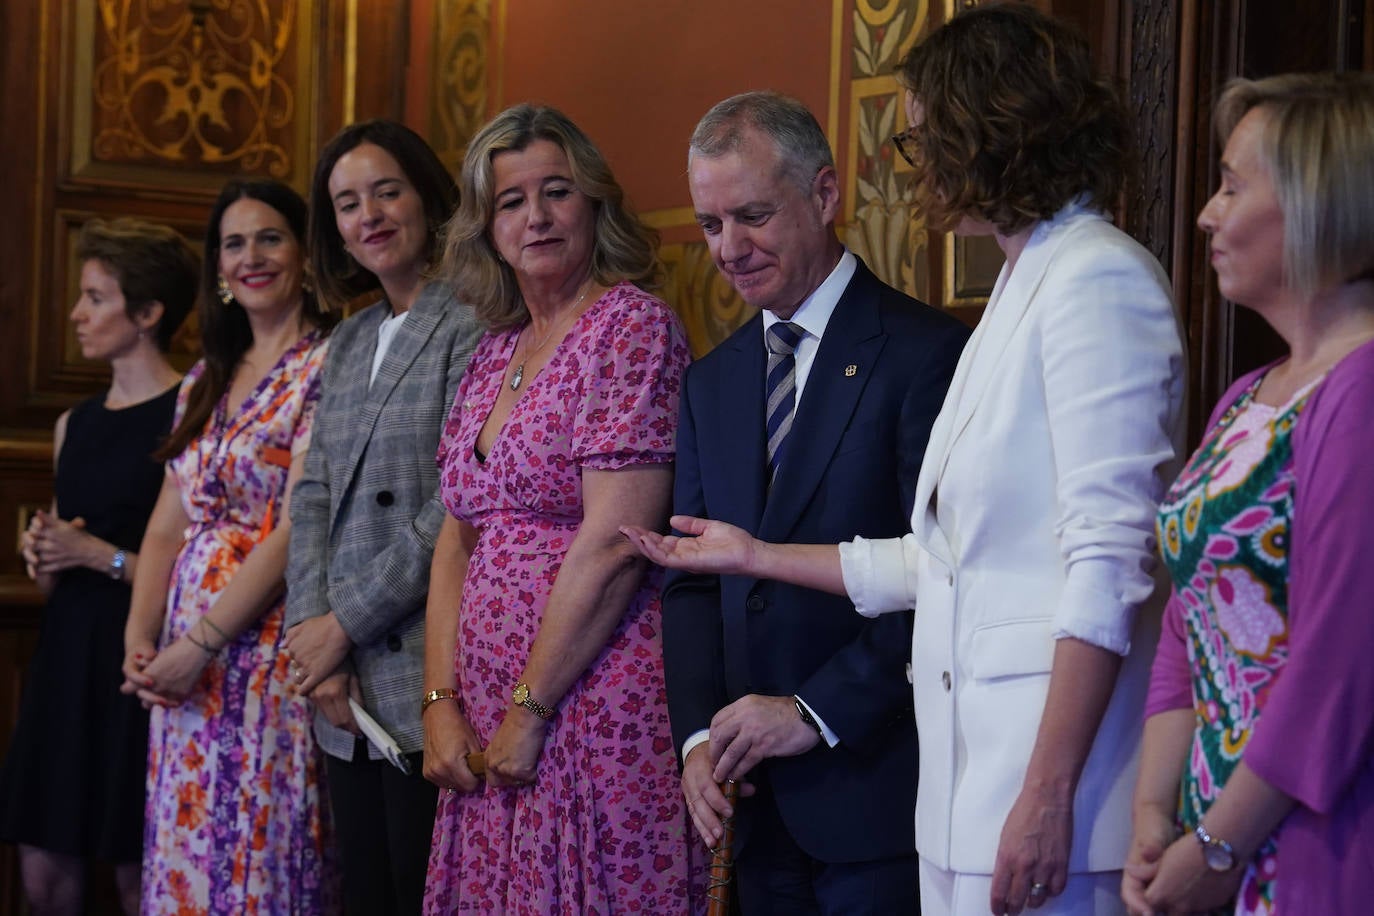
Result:
<svg viewBox="0 0 1374 916">
<path fill-rule="evenodd" d="M 287 499 L 328 321 L 302 294 L 305 202 L 231 181 L 205 243 L 205 358 L 181 385 L 125 630 L 153 715 L 144 913 L 338 909 L 311 709 L 282 641 Z"/>
</svg>

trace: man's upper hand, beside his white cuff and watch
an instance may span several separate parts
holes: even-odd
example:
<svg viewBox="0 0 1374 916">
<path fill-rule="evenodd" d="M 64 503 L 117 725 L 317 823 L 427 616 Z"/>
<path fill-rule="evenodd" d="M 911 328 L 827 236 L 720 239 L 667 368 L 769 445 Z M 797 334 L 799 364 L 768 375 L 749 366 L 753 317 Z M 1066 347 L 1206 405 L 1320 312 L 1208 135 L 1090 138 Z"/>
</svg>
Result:
<svg viewBox="0 0 1374 916">
<path fill-rule="evenodd" d="M 805 754 L 819 740 L 816 729 L 801 721 L 794 698 L 742 696 L 710 720 L 712 777 L 743 779 L 758 761 Z"/>
</svg>

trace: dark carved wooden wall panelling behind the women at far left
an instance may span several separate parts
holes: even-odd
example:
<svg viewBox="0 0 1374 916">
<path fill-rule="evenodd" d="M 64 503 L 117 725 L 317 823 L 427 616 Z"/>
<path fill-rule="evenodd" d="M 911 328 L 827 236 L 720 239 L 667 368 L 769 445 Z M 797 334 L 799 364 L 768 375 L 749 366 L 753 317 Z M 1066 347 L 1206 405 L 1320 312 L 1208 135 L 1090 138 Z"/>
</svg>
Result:
<svg viewBox="0 0 1374 916">
<path fill-rule="evenodd" d="M 393 0 L 71 0 L 0 4 L 0 751 L 40 597 L 16 553 L 51 500 L 52 423 L 99 391 L 67 313 L 92 216 L 159 220 L 199 242 L 224 180 L 305 191 L 345 119 L 400 117 L 407 4 Z M 397 18 L 397 11 L 403 15 Z M 357 80 L 359 63 L 396 62 Z M 192 358 L 187 332 L 179 360 Z M 0 850 L 0 916 L 19 912 Z"/>
</svg>

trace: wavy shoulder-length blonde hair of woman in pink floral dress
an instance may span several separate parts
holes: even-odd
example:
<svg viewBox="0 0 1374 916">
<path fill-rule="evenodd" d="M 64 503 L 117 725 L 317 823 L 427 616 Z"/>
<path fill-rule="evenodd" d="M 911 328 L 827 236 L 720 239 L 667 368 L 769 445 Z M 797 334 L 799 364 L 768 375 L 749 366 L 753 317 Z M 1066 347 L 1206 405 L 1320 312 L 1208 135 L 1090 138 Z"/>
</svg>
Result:
<svg viewBox="0 0 1374 916">
<path fill-rule="evenodd" d="M 459 173 L 459 205 L 444 231 L 440 276 L 470 302 L 489 328 L 508 328 L 529 317 L 515 272 L 492 244 L 491 221 L 496 187 L 492 159 L 548 140 L 567 157 L 573 183 L 596 211 L 592 277 L 602 286 L 629 280 L 644 290 L 658 286 L 658 233 L 640 222 L 625 203 L 606 158 L 558 108 L 517 104 L 477 132 Z"/>
</svg>

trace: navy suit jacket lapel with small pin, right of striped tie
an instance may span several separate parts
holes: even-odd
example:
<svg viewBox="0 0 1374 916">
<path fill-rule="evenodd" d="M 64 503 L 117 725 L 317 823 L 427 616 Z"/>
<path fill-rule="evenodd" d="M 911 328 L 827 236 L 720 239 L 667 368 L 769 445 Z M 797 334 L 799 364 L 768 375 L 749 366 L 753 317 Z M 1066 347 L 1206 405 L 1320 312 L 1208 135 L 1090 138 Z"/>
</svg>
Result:
<svg viewBox="0 0 1374 916">
<path fill-rule="evenodd" d="M 835 304 L 787 434 L 758 536 L 786 540 L 830 467 L 886 335 L 878 320 L 877 280 L 860 262 Z M 760 347 L 763 343 L 760 342 Z"/>
</svg>

